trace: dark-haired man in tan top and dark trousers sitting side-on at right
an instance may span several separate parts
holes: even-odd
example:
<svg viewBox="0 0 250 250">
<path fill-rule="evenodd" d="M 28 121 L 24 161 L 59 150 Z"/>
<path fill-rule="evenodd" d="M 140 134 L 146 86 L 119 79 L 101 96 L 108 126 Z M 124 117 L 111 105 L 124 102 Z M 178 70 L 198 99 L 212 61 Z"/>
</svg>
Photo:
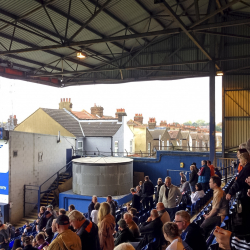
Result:
<svg viewBox="0 0 250 250">
<path fill-rule="evenodd" d="M 226 194 L 222 190 L 221 179 L 218 176 L 212 176 L 209 182 L 210 188 L 214 191 L 212 210 L 204 215 L 205 220 L 201 224 L 205 237 L 211 232 L 215 226 L 219 226 L 228 214 L 228 201 L 226 200 Z"/>
</svg>

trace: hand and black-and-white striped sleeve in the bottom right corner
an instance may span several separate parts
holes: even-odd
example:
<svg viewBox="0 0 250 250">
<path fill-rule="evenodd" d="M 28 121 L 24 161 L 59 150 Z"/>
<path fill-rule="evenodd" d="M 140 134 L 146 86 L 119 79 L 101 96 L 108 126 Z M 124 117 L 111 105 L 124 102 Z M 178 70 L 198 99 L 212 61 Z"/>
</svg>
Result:
<svg viewBox="0 0 250 250">
<path fill-rule="evenodd" d="M 221 249 L 250 249 L 250 242 L 240 240 L 239 238 L 233 236 L 230 231 L 220 227 L 215 228 L 214 235 Z"/>
</svg>

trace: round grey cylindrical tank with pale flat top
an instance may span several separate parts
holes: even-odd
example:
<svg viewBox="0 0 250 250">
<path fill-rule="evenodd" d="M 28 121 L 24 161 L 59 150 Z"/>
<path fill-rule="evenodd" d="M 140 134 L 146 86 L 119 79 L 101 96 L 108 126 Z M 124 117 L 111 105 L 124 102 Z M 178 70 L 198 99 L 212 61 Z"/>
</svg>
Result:
<svg viewBox="0 0 250 250">
<path fill-rule="evenodd" d="M 76 194 L 125 195 L 132 186 L 132 159 L 85 157 L 73 160 L 73 192 Z"/>
</svg>

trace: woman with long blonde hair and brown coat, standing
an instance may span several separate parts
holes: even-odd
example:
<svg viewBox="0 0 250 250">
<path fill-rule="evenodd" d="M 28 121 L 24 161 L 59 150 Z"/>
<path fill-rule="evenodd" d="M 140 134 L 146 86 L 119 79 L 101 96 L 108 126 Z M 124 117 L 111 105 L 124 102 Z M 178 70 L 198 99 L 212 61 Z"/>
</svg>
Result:
<svg viewBox="0 0 250 250">
<path fill-rule="evenodd" d="M 110 205 L 107 202 L 103 202 L 98 210 L 98 228 L 101 250 L 113 250 L 115 218 L 110 214 Z"/>
</svg>

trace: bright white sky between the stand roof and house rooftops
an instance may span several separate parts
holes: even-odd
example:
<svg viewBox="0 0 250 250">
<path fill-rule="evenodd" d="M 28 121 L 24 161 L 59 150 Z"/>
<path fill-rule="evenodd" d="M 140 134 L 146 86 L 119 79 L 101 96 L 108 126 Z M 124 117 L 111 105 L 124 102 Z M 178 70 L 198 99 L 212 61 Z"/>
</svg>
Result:
<svg viewBox="0 0 250 250">
<path fill-rule="evenodd" d="M 216 123 L 222 121 L 222 78 L 216 77 Z M 57 109 L 60 98 L 71 98 L 74 111 L 90 112 L 96 103 L 104 115 L 115 115 L 125 108 L 129 119 L 142 113 L 144 123 L 155 117 L 183 123 L 198 119 L 209 121 L 209 78 L 173 81 L 147 81 L 54 88 L 0 77 L 0 121 L 17 115 L 18 123 L 38 108 Z"/>
</svg>

